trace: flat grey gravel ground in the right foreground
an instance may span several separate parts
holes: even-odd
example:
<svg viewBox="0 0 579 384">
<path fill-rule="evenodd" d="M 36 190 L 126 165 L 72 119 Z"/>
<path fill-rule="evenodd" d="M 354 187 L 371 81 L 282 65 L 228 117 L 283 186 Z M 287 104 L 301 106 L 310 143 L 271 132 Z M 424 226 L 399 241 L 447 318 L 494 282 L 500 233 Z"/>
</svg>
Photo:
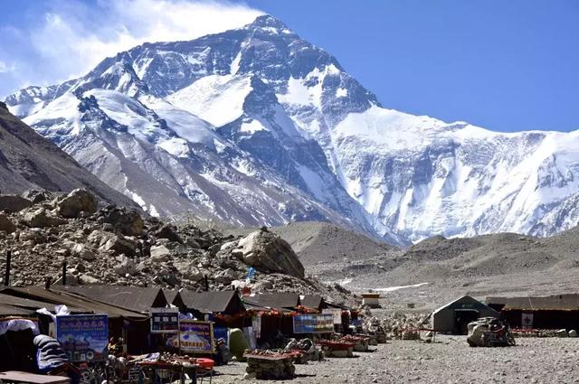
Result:
<svg viewBox="0 0 579 384">
<path fill-rule="evenodd" d="M 352 359 L 296 365 L 278 383 L 573 383 L 579 382 L 579 339 L 517 339 L 510 348 L 470 348 L 466 336 L 437 342 L 391 341 Z M 217 367 L 215 384 L 242 380 L 246 364 Z M 261 382 L 265 380 L 243 380 Z"/>
</svg>

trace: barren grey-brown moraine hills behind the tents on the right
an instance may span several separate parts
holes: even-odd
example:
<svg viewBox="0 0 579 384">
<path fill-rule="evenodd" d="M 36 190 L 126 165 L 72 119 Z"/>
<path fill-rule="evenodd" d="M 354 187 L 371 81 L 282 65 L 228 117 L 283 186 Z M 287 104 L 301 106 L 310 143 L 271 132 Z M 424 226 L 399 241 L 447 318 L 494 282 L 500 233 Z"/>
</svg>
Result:
<svg viewBox="0 0 579 384">
<path fill-rule="evenodd" d="M 500 233 L 474 238 L 423 240 L 413 247 L 332 267 L 312 266 L 324 281 L 384 293 L 388 311 L 431 311 L 460 295 L 576 293 L 579 229 L 549 238 Z"/>
</svg>

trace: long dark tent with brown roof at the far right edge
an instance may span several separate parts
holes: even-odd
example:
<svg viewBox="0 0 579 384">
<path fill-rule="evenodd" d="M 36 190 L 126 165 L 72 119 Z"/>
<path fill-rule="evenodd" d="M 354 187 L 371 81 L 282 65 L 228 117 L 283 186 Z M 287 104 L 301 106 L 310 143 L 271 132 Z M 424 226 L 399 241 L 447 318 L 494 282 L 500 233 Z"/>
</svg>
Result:
<svg viewBox="0 0 579 384">
<path fill-rule="evenodd" d="M 488 297 L 511 327 L 579 329 L 579 295 Z"/>
</svg>

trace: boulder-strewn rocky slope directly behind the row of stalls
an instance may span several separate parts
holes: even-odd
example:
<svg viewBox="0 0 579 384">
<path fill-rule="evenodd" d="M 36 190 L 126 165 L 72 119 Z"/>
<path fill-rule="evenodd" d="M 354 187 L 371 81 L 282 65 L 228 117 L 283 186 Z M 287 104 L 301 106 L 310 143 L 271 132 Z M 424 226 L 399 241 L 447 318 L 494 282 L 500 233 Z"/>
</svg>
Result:
<svg viewBox="0 0 579 384">
<path fill-rule="evenodd" d="M 345 290 L 308 277 L 289 244 L 268 229 L 225 236 L 176 227 L 137 211 L 102 205 L 86 190 L 0 195 L 0 249 L 12 250 L 11 284 L 57 282 L 227 289 L 255 267 L 254 292 L 319 293 L 344 302 Z M 4 269 L 3 269 L 4 270 Z M 349 297 L 351 299 L 351 297 Z"/>
</svg>

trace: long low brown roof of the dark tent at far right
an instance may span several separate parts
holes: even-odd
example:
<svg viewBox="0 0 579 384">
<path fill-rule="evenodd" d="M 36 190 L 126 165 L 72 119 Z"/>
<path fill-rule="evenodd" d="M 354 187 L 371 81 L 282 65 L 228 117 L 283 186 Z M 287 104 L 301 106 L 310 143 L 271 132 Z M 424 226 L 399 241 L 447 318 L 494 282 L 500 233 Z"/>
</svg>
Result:
<svg viewBox="0 0 579 384">
<path fill-rule="evenodd" d="M 488 304 L 504 304 L 504 310 L 579 310 L 579 295 L 552 295 L 540 297 L 488 297 Z"/>
</svg>

